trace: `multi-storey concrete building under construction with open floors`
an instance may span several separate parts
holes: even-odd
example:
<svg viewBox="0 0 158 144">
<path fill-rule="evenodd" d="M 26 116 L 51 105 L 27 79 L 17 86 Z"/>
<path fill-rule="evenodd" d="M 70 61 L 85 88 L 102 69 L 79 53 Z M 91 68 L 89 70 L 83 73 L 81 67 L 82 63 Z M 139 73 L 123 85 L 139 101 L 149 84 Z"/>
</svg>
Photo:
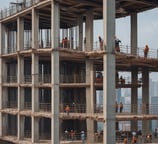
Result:
<svg viewBox="0 0 158 144">
<path fill-rule="evenodd" d="M 2 10 L 1 141 L 81 143 L 83 131 L 88 144 L 114 144 L 122 142 L 121 121 L 130 123 L 130 131 L 141 121 L 146 135 L 158 119 L 157 107 L 149 104 L 149 73 L 158 71 L 158 58 L 156 50 L 144 58 L 138 49 L 137 17 L 156 7 L 157 0 L 19 0 Z M 131 44 L 116 51 L 115 19 L 125 16 Z M 104 36 L 94 43 L 93 22 L 99 19 Z M 130 73 L 130 80 L 121 72 Z M 118 88 L 131 89 L 131 104 L 121 113 L 115 111 Z"/>
</svg>

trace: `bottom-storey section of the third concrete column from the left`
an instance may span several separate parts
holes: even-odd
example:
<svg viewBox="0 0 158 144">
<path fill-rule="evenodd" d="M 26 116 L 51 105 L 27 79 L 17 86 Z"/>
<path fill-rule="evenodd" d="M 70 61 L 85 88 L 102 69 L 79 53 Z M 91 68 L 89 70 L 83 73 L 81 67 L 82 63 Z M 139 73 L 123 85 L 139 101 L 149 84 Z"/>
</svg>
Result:
<svg viewBox="0 0 158 144">
<path fill-rule="evenodd" d="M 32 143 L 39 141 L 39 118 L 32 117 Z"/>
</svg>

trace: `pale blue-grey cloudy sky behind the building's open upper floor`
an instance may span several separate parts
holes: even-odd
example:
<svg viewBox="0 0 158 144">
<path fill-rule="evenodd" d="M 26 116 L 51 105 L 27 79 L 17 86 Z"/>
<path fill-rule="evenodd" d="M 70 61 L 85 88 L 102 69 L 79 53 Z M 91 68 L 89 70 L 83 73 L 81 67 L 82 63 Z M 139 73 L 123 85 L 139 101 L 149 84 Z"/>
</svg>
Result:
<svg viewBox="0 0 158 144">
<path fill-rule="evenodd" d="M 16 0 L 0 0 L 0 9 L 8 8 L 10 2 Z M 148 10 L 138 14 L 138 47 L 149 45 L 150 49 L 158 49 L 158 8 Z M 100 28 L 101 21 L 94 23 L 94 26 Z M 116 19 L 116 36 L 121 40 L 122 45 L 130 45 L 130 17 Z M 103 31 L 96 29 L 97 39 L 99 35 L 103 36 Z M 153 80 L 158 81 L 158 73 L 150 74 Z"/>
</svg>

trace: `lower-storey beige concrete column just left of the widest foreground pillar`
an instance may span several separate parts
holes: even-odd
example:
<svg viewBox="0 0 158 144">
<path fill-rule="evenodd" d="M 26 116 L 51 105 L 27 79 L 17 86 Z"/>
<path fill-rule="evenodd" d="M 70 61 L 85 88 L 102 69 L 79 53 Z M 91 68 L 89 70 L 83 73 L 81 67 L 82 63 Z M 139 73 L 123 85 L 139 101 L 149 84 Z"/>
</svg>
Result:
<svg viewBox="0 0 158 144">
<path fill-rule="evenodd" d="M 93 61 L 86 61 L 86 83 L 90 83 L 90 87 L 86 88 L 86 112 L 87 114 L 94 114 L 94 67 Z M 87 119 L 87 142 L 94 142 L 94 121 Z"/>
</svg>

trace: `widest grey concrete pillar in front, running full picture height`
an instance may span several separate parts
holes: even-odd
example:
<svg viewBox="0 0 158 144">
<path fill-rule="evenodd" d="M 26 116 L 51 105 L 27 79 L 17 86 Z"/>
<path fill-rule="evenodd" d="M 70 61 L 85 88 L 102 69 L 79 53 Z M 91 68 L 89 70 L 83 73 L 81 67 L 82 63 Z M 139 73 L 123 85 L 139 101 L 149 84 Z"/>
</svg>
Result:
<svg viewBox="0 0 158 144">
<path fill-rule="evenodd" d="M 103 139 L 105 144 L 115 143 L 115 0 L 103 0 Z"/>
</svg>

